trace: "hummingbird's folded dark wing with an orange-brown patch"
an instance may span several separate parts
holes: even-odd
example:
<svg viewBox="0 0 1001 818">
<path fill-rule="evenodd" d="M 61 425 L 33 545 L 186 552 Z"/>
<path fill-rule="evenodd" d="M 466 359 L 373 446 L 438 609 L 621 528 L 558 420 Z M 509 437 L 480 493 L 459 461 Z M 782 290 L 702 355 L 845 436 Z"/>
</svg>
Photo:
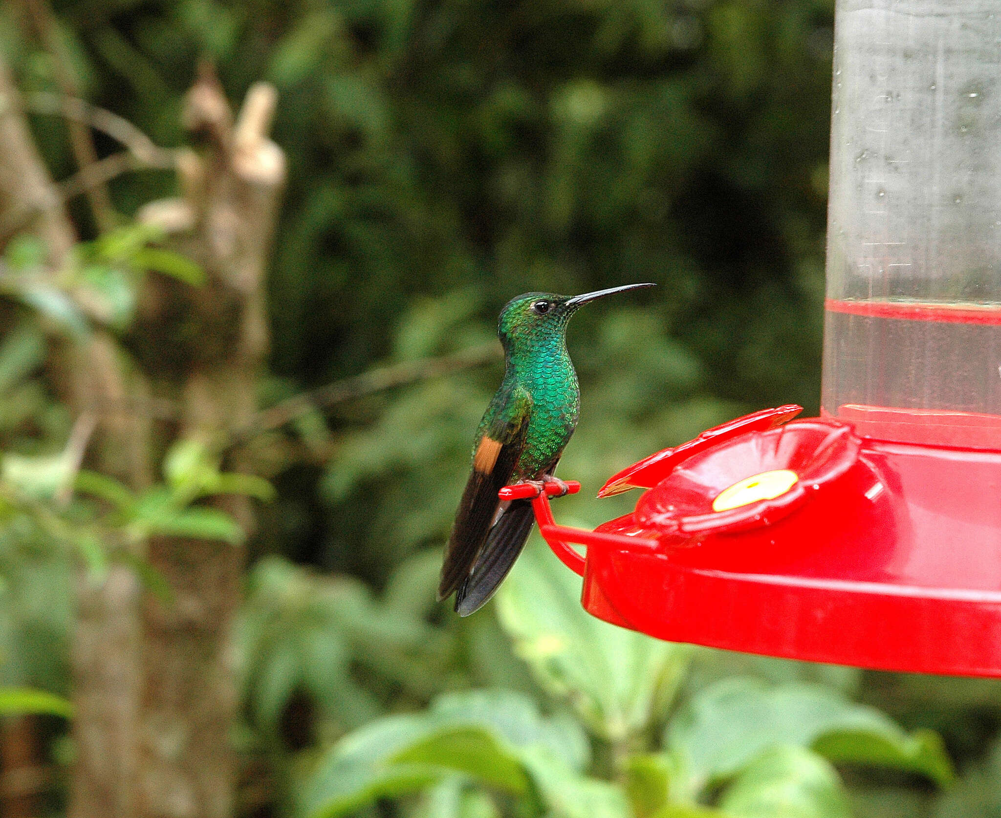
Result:
<svg viewBox="0 0 1001 818">
<path fill-rule="evenodd" d="M 525 448 L 532 395 L 516 386 L 509 394 L 498 397 L 504 408 L 494 413 L 479 439 L 472 456 L 472 474 L 465 484 L 455 514 L 455 524 L 441 565 L 439 600 L 465 584 L 500 505 L 497 492 L 511 482 L 515 464 Z M 502 520 L 507 516 L 506 512 Z"/>
</svg>

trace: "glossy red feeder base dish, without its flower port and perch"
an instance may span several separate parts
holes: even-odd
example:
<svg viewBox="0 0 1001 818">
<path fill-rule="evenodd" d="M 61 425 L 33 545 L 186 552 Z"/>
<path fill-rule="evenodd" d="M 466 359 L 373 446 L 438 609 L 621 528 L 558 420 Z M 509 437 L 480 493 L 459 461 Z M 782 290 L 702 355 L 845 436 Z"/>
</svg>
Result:
<svg viewBox="0 0 1001 818">
<path fill-rule="evenodd" d="M 772 525 L 589 548 L 585 608 L 672 642 L 1001 676 L 1001 453 L 864 440 L 859 462 Z M 634 515 L 598 532 L 657 537 Z"/>
</svg>

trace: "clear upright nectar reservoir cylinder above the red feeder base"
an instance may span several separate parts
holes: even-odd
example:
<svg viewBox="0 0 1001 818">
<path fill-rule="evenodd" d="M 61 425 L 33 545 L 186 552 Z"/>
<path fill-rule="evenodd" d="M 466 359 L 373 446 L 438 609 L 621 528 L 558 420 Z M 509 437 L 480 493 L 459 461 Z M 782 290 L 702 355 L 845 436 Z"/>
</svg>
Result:
<svg viewBox="0 0 1001 818">
<path fill-rule="evenodd" d="M 1001 3 L 840 0 L 823 405 L 1001 448 Z"/>
</svg>

